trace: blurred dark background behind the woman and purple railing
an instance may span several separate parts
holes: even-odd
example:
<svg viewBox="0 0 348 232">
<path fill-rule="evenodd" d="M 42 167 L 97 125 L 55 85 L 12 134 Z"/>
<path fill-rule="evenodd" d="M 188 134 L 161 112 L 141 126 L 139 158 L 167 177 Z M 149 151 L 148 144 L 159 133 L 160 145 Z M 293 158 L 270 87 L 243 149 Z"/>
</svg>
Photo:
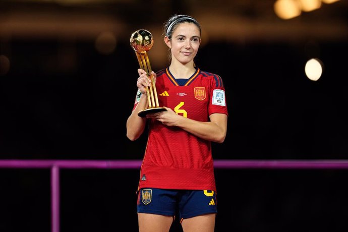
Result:
<svg viewBox="0 0 348 232">
<path fill-rule="evenodd" d="M 0 159 L 141 159 L 126 138 L 137 91 L 130 35 L 202 27 L 196 65 L 220 75 L 229 110 L 215 159 L 347 159 L 348 1 L 284 20 L 275 0 L 0 1 Z M 316 1 L 313 1 L 316 2 Z M 320 1 L 317 1 L 320 2 Z M 305 74 L 319 59 L 317 81 Z M 346 231 L 346 170 L 216 170 L 216 231 Z M 0 231 L 49 231 L 49 170 L 0 169 Z M 137 230 L 138 170 L 62 170 L 61 231 Z M 180 231 L 177 224 L 173 231 Z"/>
</svg>

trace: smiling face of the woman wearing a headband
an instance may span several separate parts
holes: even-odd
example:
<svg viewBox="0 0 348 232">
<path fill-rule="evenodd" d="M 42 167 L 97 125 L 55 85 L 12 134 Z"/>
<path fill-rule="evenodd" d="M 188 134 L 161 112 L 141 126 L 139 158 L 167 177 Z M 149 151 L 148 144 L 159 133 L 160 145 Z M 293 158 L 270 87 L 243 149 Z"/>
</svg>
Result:
<svg viewBox="0 0 348 232">
<path fill-rule="evenodd" d="M 182 64 L 193 62 L 201 43 L 199 28 L 194 23 L 181 23 L 172 33 L 171 39 L 165 37 L 170 48 L 172 62 Z"/>
</svg>

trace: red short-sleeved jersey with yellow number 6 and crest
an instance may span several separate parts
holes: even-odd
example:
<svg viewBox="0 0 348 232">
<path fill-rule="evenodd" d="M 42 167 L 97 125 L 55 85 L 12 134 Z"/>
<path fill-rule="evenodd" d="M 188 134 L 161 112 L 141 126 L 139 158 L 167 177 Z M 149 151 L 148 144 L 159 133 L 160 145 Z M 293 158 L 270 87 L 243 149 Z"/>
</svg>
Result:
<svg viewBox="0 0 348 232">
<path fill-rule="evenodd" d="M 157 72 L 159 106 L 179 115 L 208 122 L 212 113 L 227 113 L 222 79 L 196 69 L 189 79 L 174 78 L 169 69 Z M 139 92 L 134 108 L 138 103 Z M 149 120 L 149 135 L 139 187 L 216 191 L 211 141 L 178 127 Z"/>
</svg>

